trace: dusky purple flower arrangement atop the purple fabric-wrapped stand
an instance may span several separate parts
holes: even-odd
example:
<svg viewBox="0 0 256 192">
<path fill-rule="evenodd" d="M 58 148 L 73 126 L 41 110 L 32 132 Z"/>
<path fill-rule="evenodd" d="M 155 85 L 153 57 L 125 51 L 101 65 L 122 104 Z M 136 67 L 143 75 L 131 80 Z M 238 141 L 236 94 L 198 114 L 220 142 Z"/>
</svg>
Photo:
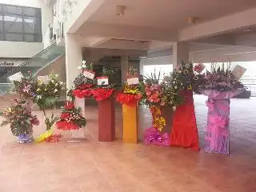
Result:
<svg viewBox="0 0 256 192">
<path fill-rule="evenodd" d="M 201 83 L 198 86 L 199 90 L 230 91 L 244 88 L 229 68 L 225 68 L 224 65 L 213 65 L 212 72 L 206 71 L 206 74 L 198 74 L 198 79 L 201 79 Z M 194 70 L 198 71 L 197 65 L 194 66 Z"/>
</svg>

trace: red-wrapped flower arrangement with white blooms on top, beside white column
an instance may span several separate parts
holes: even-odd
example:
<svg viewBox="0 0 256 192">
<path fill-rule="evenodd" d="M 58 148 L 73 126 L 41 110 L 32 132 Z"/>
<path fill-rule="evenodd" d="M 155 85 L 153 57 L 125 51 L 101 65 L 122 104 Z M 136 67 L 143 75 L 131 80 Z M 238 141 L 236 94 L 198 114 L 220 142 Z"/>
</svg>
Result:
<svg viewBox="0 0 256 192">
<path fill-rule="evenodd" d="M 73 96 L 78 98 L 90 97 L 92 94 L 90 90 L 95 86 L 94 77 L 88 78 L 84 75 L 84 72 L 89 74 L 94 74 L 93 65 L 86 65 L 86 61 L 82 61 L 82 66 L 78 66 L 78 70 L 81 70 L 81 73 L 78 74 L 78 77 L 74 79 L 74 89 L 71 90 Z"/>
</svg>

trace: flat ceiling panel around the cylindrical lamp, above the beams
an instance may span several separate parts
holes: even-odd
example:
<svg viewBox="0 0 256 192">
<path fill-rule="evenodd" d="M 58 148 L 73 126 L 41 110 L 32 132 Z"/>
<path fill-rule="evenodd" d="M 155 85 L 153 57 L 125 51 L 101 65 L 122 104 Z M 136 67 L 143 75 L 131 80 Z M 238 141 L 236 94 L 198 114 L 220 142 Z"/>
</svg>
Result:
<svg viewBox="0 0 256 192">
<path fill-rule="evenodd" d="M 126 6 L 121 18 L 115 15 L 118 5 Z M 181 30 L 190 16 L 199 18 L 198 22 L 207 22 L 253 7 L 256 0 L 107 0 L 89 22 Z"/>
</svg>

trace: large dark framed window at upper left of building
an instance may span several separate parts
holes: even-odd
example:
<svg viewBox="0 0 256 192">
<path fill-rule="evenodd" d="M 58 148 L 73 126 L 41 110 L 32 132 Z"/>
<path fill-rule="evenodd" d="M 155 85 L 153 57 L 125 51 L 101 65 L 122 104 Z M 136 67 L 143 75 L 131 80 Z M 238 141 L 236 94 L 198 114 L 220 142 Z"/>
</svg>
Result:
<svg viewBox="0 0 256 192">
<path fill-rule="evenodd" d="M 0 41 L 42 42 L 41 9 L 0 4 Z"/>
</svg>

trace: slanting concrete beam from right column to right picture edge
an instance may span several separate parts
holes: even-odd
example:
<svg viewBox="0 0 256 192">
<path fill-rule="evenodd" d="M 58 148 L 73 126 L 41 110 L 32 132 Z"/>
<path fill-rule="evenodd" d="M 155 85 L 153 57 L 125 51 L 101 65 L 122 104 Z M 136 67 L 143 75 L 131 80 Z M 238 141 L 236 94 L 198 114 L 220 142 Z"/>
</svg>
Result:
<svg viewBox="0 0 256 192">
<path fill-rule="evenodd" d="M 210 22 L 204 22 L 196 26 L 187 27 L 178 33 L 178 41 L 206 38 L 245 26 L 255 25 L 255 15 L 256 8 L 245 10 L 238 14 L 232 14 L 223 18 L 218 18 Z"/>
</svg>

